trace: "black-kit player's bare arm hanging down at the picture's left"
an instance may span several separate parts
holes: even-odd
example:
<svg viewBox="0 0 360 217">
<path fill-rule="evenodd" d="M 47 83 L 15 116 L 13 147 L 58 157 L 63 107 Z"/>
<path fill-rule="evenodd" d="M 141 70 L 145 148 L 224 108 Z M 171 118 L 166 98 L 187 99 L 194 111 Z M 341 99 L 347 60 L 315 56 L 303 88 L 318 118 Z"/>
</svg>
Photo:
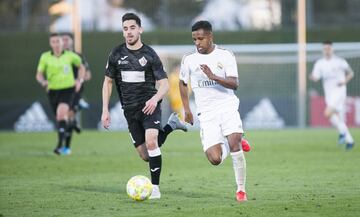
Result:
<svg viewBox="0 0 360 217">
<path fill-rule="evenodd" d="M 102 115 L 101 115 L 101 122 L 105 129 L 108 129 L 110 126 L 109 102 L 110 102 L 111 92 L 112 92 L 112 79 L 108 76 L 105 76 L 103 89 L 102 89 L 103 107 L 102 107 Z"/>
</svg>

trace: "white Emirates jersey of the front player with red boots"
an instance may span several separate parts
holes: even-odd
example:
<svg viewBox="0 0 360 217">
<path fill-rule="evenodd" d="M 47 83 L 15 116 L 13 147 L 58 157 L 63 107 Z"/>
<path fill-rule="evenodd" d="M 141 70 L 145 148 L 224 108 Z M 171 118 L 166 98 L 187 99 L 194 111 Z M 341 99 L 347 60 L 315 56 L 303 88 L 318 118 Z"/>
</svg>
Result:
<svg viewBox="0 0 360 217">
<path fill-rule="evenodd" d="M 215 46 L 210 54 L 194 52 L 185 55 L 182 59 L 179 77 L 185 84 L 191 82 L 197 112 L 223 110 L 234 108 L 234 106 L 237 108 L 239 99 L 234 91 L 210 80 L 200 69 L 201 64 L 208 65 L 216 76 L 238 77 L 235 56 L 228 50 Z"/>
</svg>

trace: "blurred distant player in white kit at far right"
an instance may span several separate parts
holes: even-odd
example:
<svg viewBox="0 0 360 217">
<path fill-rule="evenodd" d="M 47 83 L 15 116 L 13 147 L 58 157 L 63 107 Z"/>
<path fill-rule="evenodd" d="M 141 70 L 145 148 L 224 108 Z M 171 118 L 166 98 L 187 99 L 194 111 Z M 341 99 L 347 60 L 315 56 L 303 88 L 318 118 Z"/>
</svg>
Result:
<svg viewBox="0 0 360 217">
<path fill-rule="evenodd" d="M 346 149 L 354 146 L 345 123 L 346 84 L 354 77 L 354 72 L 345 59 L 334 54 L 331 41 L 323 42 L 323 58 L 315 62 L 310 75 L 312 81 L 322 80 L 326 109 L 324 115 L 339 132 L 339 144 L 346 143 Z"/>
</svg>

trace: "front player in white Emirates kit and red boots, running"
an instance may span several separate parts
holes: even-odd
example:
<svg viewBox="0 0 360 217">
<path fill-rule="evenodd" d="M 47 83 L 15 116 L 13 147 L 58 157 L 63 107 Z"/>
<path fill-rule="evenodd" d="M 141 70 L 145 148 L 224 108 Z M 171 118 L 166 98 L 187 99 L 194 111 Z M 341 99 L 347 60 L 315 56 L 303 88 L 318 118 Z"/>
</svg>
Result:
<svg viewBox="0 0 360 217">
<path fill-rule="evenodd" d="M 246 161 L 240 145 L 244 131 L 238 111 L 239 99 L 234 94 L 238 87 L 235 56 L 213 44 L 212 26 L 208 21 L 198 21 L 192 26 L 192 38 L 196 52 L 183 57 L 179 75 L 185 121 L 193 123 L 187 87 L 190 81 L 203 150 L 213 165 L 219 165 L 230 151 L 237 184 L 236 199 L 243 202 L 247 200 Z"/>
</svg>

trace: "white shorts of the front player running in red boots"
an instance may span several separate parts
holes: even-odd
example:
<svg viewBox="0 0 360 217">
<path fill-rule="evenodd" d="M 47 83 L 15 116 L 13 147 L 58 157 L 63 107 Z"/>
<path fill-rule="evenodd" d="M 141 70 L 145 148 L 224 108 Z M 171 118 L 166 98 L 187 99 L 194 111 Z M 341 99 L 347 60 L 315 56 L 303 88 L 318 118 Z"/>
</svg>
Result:
<svg viewBox="0 0 360 217">
<path fill-rule="evenodd" d="M 219 143 L 232 133 L 243 133 L 239 111 L 212 111 L 198 115 L 200 122 L 200 138 L 204 152 Z"/>
</svg>

